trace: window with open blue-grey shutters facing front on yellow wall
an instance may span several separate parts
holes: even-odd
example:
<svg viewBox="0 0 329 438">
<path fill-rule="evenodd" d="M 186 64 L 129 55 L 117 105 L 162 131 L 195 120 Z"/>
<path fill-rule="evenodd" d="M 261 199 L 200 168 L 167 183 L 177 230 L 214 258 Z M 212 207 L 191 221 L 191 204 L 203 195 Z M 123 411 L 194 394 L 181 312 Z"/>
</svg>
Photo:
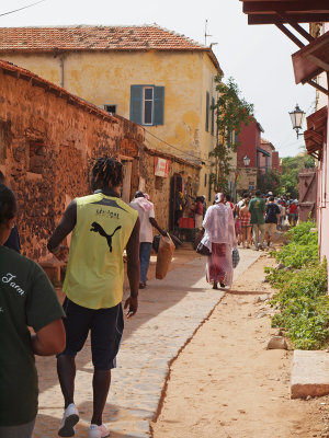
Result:
<svg viewBox="0 0 329 438">
<path fill-rule="evenodd" d="M 163 125 L 164 87 L 131 87 L 131 120 L 139 125 Z"/>
</svg>

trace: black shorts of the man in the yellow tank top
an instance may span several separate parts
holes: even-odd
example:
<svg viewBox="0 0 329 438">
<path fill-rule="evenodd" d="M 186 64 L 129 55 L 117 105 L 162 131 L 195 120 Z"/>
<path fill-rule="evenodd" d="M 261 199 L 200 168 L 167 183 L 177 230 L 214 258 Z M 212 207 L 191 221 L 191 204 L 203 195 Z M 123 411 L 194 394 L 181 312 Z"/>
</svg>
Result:
<svg viewBox="0 0 329 438">
<path fill-rule="evenodd" d="M 114 308 L 94 310 L 78 306 L 66 298 L 63 308 L 67 315 L 64 319 L 66 348 L 60 355 L 76 356 L 82 349 L 90 331 L 94 369 L 115 368 L 124 328 L 121 303 Z"/>
</svg>

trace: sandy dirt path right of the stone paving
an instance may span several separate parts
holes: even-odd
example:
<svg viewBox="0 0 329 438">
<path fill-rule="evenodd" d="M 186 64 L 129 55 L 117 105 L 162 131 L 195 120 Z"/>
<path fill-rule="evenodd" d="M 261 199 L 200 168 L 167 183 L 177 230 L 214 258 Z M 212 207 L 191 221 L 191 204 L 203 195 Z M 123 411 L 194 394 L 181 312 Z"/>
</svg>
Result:
<svg viewBox="0 0 329 438">
<path fill-rule="evenodd" d="M 173 361 L 155 438 L 329 437 L 329 399 L 291 400 L 292 351 L 265 349 L 275 330 L 254 292 L 271 292 L 261 283 L 271 263 L 234 284 Z"/>
</svg>

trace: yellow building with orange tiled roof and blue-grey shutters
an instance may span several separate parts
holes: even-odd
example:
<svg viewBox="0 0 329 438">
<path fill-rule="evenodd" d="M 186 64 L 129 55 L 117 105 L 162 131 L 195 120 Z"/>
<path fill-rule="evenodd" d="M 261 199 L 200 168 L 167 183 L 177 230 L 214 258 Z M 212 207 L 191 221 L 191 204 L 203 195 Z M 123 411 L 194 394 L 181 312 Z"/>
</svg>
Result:
<svg viewBox="0 0 329 438">
<path fill-rule="evenodd" d="M 198 193 L 213 198 L 215 143 L 211 47 L 151 26 L 0 28 L 0 57 L 146 129 L 147 146 L 202 164 Z"/>
</svg>

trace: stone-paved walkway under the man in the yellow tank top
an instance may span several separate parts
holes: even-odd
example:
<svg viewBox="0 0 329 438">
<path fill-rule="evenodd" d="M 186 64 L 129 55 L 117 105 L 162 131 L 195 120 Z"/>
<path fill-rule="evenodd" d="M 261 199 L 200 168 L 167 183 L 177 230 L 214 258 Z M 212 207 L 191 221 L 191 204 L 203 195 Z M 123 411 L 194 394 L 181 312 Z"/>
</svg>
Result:
<svg viewBox="0 0 329 438">
<path fill-rule="evenodd" d="M 235 279 L 260 255 L 239 250 Z M 112 373 L 104 420 L 113 438 L 147 438 L 170 361 L 193 336 L 225 292 L 205 281 L 205 257 L 151 280 L 140 291 L 139 311 L 126 321 L 124 338 Z M 39 411 L 34 438 L 53 438 L 63 415 L 63 396 L 54 358 L 37 358 Z M 77 358 L 76 403 L 80 411 L 77 437 L 87 437 L 92 412 L 92 372 L 89 341 Z"/>
</svg>

